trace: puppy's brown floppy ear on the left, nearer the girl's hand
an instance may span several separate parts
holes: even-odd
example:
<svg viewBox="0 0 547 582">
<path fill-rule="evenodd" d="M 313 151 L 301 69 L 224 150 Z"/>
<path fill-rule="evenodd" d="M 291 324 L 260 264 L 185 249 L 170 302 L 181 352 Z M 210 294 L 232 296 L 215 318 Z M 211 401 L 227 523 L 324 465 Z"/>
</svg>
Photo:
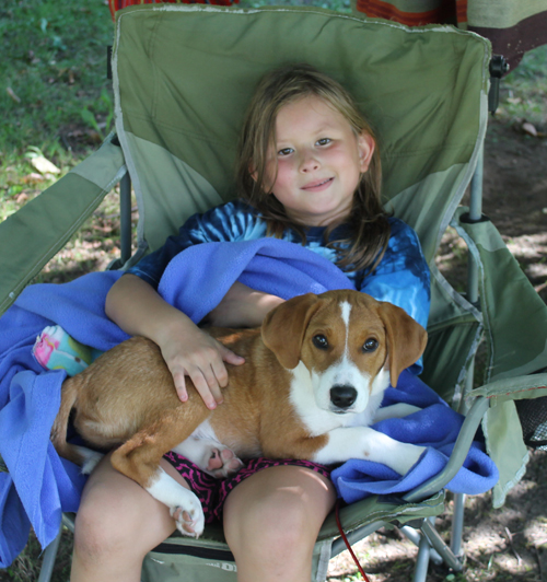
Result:
<svg viewBox="0 0 547 582">
<path fill-rule="evenodd" d="M 283 368 L 292 370 L 299 364 L 307 324 L 319 304 L 317 295 L 306 293 L 281 303 L 266 315 L 263 341 Z"/>
</svg>

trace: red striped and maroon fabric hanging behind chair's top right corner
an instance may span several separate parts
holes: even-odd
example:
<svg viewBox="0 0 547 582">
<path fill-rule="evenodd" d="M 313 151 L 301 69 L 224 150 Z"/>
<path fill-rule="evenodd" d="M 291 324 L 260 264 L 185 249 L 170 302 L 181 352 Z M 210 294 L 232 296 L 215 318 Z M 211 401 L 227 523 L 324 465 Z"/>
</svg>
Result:
<svg viewBox="0 0 547 582">
<path fill-rule="evenodd" d="M 535 0 L 353 0 L 369 18 L 407 26 L 454 24 L 492 43 L 511 69 L 524 53 L 547 43 L 547 5 Z M 542 5 L 543 4 L 543 5 Z"/>
</svg>

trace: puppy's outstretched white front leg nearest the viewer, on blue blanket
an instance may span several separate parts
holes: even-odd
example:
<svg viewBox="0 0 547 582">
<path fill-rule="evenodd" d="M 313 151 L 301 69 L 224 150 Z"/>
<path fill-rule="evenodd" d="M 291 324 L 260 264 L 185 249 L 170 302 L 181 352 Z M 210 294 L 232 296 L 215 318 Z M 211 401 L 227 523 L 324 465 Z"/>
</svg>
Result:
<svg viewBox="0 0 547 582">
<path fill-rule="evenodd" d="M 316 463 L 328 465 L 361 458 L 383 463 L 406 475 L 426 451 L 424 446 L 395 441 L 369 427 L 335 429 L 327 435 L 327 444 L 313 458 Z"/>
</svg>

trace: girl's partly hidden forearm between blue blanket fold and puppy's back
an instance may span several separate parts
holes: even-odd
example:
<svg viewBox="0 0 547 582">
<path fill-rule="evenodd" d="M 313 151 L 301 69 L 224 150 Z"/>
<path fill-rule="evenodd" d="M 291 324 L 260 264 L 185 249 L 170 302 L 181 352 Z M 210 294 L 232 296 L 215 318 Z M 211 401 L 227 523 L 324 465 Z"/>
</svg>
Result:
<svg viewBox="0 0 547 582">
<path fill-rule="evenodd" d="M 258 327 L 266 314 L 284 300 L 236 281 L 203 323 L 218 327 Z"/>
</svg>

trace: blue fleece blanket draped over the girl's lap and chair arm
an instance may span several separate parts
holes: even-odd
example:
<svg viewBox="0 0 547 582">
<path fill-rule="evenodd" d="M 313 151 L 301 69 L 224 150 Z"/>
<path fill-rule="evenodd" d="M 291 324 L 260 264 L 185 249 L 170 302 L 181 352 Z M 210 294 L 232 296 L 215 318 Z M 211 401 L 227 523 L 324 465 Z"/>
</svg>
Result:
<svg viewBox="0 0 547 582">
<path fill-rule="evenodd" d="M 61 512 L 78 509 L 85 482 L 78 467 L 59 458 L 50 444 L 49 432 L 66 373 L 45 372 L 37 364 L 32 356 L 36 336 L 46 326 L 60 325 L 75 340 L 102 351 L 127 339 L 104 313 L 106 294 L 120 276 L 119 271 L 98 272 L 60 286 L 31 286 L 0 318 L 0 455 L 10 472 L 0 474 L 0 567 L 8 567 L 23 549 L 31 524 L 46 547 L 58 533 Z M 347 277 L 319 255 L 292 243 L 264 238 L 188 248 L 168 265 L 159 292 L 197 323 L 218 305 L 235 280 L 283 299 L 306 292 L 351 289 Z M 405 379 L 410 382 L 409 394 L 403 382 L 396 391 L 389 389 L 396 401 L 398 394 L 403 398 L 414 397 L 416 379 L 410 374 Z M 455 441 L 461 417 L 427 386 L 421 384 L 421 388 L 428 392 L 429 399 L 422 397 L 420 401 L 428 409 L 442 410 L 443 420 L 433 422 L 424 414 L 407 433 L 415 439 L 416 433 L 427 428 L 423 442 L 431 443 L 435 450 L 440 444 L 441 454 L 445 454 Z M 442 426 L 442 434 L 435 432 L 438 423 Z M 428 454 L 422 458 L 427 459 Z M 493 465 L 478 447 L 477 455 L 467 467 L 469 475 L 462 480 L 463 486 L 473 485 L 465 492 L 486 491 L 497 480 Z M 435 456 L 437 464 L 428 461 L 428 470 L 420 475 L 420 461 L 409 482 L 423 481 L 444 462 L 445 457 Z M 370 474 L 362 468 L 351 470 L 360 473 L 341 475 L 344 482 L 354 481 L 357 475 L 357 481 L 370 481 L 370 492 L 375 492 L 374 487 L 381 488 L 386 480 L 392 486 L 406 479 L 393 475 L 379 478 L 377 467 Z M 347 499 L 347 488 L 340 487 L 340 479 L 336 482 Z M 370 494 L 365 489 L 353 497 Z"/>
</svg>

